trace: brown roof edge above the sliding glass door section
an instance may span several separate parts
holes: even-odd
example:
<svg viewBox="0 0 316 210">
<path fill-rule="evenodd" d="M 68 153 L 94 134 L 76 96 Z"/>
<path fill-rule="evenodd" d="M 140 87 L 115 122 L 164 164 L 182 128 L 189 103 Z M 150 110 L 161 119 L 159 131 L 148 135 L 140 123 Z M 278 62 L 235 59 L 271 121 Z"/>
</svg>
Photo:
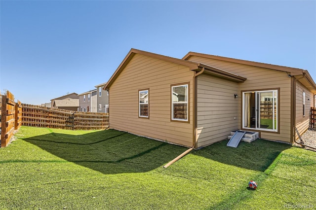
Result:
<svg viewBox="0 0 316 210">
<path fill-rule="evenodd" d="M 246 60 L 241 60 L 241 59 L 236 59 L 236 58 L 208 55 L 208 54 L 197 53 L 197 52 L 189 52 L 182 59 L 188 60 L 191 56 L 198 56 L 198 57 L 203 57 L 203 58 L 233 62 L 237 64 L 244 64 L 244 65 L 249 65 L 249 66 L 254 66 L 254 67 L 261 67 L 265 69 L 284 71 L 289 76 L 295 76 L 312 93 L 316 94 L 316 83 L 313 80 L 312 76 L 309 74 L 308 70 L 278 66 L 278 65 L 273 65 L 273 64 L 265 64 L 265 63 L 259 63 L 259 62 L 254 62 L 254 61 L 246 61 Z"/>
</svg>

